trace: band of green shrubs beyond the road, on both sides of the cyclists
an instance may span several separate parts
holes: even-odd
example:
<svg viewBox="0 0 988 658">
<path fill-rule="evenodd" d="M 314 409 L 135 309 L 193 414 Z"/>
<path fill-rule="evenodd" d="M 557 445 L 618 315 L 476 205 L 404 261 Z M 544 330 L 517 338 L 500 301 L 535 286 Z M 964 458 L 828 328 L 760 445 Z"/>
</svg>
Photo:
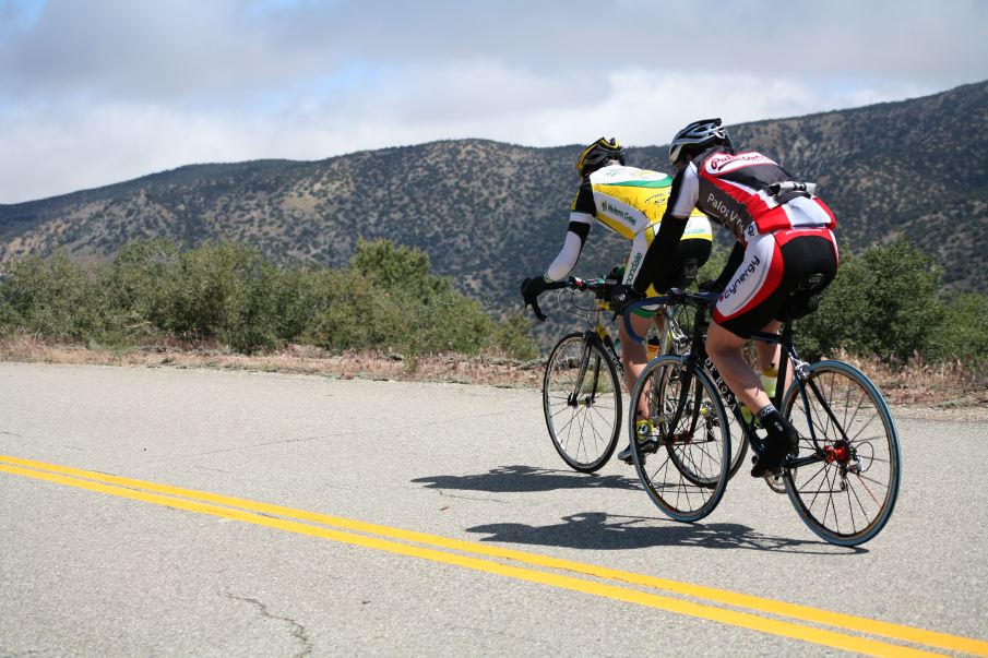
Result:
<svg viewBox="0 0 988 658">
<path fill-rule="evenodd" d="M 718 250 L 701 275 L 725 260 Z M 805 356 L 979 369 L 988 362 L 988 298 L 943 294 L 941 278 L 905 241 L 845 254 L 820 311 L 798 323 Z M 559 298 L 545 297 L 547 311 L 561 311 Z M 88 267 L 63 253 L 25 256 L 0 278 L 0 335 L 94 347 L 215 345 L 250 355 L 306 345 L 413 360 L 480 352 L 526 360 L 539 352 L 531 323 L 520 313 L 495 318 L 433 274 L 424 252 L 386 240 L 358 243 L 343 268 L 279 266 L 242 244 L 146 240 Z M 560 323 L 543 326 L 550 340 L 566 333 Z"/>
</svg>

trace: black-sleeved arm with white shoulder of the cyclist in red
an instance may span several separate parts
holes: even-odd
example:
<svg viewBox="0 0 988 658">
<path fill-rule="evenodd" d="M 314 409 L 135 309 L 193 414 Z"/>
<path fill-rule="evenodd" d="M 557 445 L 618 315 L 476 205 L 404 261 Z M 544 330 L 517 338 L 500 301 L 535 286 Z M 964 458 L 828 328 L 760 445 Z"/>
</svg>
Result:
<svg viewBox="0 0 988 658">
<path fill-rule="evenodd" d="M 666 212 L 663 214 L 658 234 L 648 247 L 634 280 L 631 282 L 631 287 L 636 292 L 644 294 L 650 285 L 654 285 L 655 289 L 659 291 L 669 288 L 676 276 L 671 267 L 672 253 L 686 230 L 690 213 L 697 207 L 700 193 L 699 182 L 697 166 L 692 163 L 672 179 L 672 189 L 669 192 L 669 201 Z"/>
</svg>

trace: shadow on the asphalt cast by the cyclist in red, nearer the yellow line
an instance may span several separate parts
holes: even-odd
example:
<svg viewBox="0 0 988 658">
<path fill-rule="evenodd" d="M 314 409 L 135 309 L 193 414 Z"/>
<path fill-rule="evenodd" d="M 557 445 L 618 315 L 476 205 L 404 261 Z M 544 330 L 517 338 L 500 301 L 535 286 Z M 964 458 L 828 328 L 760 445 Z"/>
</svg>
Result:
<svg viewBox="0 0 988 658">
<path fill-rule="evenodd" d="M 588 550 L 624 550 L 655 547 L 745 549 L 799 554 L 867 553 L 860 547 L 843 548 L 820 540 L 762 535 L 740 524 L 681 524 L 674 521 L 583 512 L 562 517 L 563 523 L 528 526 L 521 523 L 488 524 L 467 528 L 487 535 L 481 541 L 553 546 Z"/>
</svg>

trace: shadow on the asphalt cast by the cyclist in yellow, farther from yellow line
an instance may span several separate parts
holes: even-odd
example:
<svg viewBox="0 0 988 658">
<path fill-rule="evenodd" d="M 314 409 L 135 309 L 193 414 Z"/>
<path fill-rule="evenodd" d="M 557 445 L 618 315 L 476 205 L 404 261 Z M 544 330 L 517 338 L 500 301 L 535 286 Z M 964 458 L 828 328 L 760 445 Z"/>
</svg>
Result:
<svg viewBox="0 0 988 658">
<path fill-rule="evenodd" d="M 426 482 L 428 489 L 489 491 L 492 493 L 524 493 L 559 489 L 641 489 L 638 479 L 624 476 L 580 474 L 533 466 L 501 466 L 479 475 L 430 476 L 412 481 Z"/>
</svg>

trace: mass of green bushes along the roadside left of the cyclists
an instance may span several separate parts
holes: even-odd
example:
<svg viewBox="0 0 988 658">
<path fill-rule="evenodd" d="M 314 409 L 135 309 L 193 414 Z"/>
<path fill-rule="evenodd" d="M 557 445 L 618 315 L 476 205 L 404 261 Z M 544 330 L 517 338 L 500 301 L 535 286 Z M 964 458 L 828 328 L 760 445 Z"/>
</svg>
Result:
<svg viewBox="0 0 988 658">
<path fill-rule="evenodd" d="M 361 242 L 341 270 L 279 268 L 253 248 L 165 240 L 126 244 L 108 265 L 64 253 L 11 263 L 0 278 L 0 333 L 126 349 L 162 340 L 255 354 L 306 344 L 329 352 L 502 352 L 532 359 L 521 316 L 496 319 L 430 272 L 428 256 Z"/>
</svg>

